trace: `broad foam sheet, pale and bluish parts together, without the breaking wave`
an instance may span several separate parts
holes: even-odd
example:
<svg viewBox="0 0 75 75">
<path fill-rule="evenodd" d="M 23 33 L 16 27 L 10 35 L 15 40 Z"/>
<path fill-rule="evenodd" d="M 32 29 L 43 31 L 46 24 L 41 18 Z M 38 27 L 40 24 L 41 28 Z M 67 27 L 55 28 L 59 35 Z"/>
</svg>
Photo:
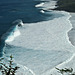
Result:
<svg viewBox="0 0 75 75">
<path fill-rule="evenodd" d="M 65 61 L 68 64 L 73 58 L 71 56 L 75 47 L 69 42 L 67 34 L 72 27 L 68 20 L 71 16 L 64 11 L 51 13 L 54 14 L 52 20 L 24 24 L 19 29 L 21 35 L 5 47 L 5 56 L 13 54 L 16 63 L 27 66 L 27 75 L 29 70 L 35 75 L 50 75 L 55 71 L 52 70 L 55 66 L 65 65 Z"/>
</svg>

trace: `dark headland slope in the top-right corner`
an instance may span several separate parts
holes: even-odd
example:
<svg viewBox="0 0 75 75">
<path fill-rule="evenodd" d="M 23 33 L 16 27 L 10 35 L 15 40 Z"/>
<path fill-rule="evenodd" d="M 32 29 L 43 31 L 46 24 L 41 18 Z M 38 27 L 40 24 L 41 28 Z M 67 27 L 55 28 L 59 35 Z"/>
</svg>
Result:
<svg viewBox="0 0 75 75">
<path fill-rule="evenodd" d="M 68 12 L 75 12 L 75 0 L 58 0 L 57 8 L 54 10 L 65 10 Z"/>
</svg>

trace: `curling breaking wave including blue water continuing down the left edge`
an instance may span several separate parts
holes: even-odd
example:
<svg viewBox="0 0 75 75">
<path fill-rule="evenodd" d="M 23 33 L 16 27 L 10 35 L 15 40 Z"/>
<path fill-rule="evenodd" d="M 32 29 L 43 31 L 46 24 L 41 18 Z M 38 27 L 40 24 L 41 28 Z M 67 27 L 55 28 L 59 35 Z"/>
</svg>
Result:
<svg viewBox="0 0 75 75">
<path fill-rule="evenodd" d="M 20 35 L 19 27 L 23 26 L 22 20 L 16 20 L 13 24 L 14 25 L 1 37 L 0 57 L 5 54 L 5 47 L 8 45 L 8 42 L 12 42 L 17 36 Z"/>
</svg>

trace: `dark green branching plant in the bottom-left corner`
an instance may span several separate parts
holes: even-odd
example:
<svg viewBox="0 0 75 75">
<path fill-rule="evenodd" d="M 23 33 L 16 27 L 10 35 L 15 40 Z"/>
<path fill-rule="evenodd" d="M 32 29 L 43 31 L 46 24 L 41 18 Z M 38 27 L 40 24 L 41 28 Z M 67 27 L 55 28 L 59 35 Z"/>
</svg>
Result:
<svg viewBox="0 0 75 75">
<path fill-rule="evenodd" d="M 7 64 L 4 64 L 2 62 L 4 58 L 0 59 L 0 71 L 2 73 L 2 75 L 15 75 L 16 71 L 18 70 L 18 66 L 13 66 L 13 56 L 10 56 L 10 60 L 8 61 L 9 64 L 7 66 Z"/>
</svg>

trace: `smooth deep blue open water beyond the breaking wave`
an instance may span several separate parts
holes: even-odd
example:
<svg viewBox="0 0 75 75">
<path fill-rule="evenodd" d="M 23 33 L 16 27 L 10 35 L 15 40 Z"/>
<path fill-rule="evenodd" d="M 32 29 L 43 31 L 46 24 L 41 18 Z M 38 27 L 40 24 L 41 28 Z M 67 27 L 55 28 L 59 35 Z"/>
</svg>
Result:
<svg viewBox="0 0 75 75">
<path fill-rule="evenodd" d="M 13 25 L 12 22 L 21 19 L 24 23 L 44 21 L 48 16 L 40 12 L 41 8 L 35 5 L 41 3 L 38 0 L 0 0 L 0 37 Z M 1 40 L 0 40 L 1 41 Z M 0 55 L 4 43 L 0 43 Z"/>
</svg>

